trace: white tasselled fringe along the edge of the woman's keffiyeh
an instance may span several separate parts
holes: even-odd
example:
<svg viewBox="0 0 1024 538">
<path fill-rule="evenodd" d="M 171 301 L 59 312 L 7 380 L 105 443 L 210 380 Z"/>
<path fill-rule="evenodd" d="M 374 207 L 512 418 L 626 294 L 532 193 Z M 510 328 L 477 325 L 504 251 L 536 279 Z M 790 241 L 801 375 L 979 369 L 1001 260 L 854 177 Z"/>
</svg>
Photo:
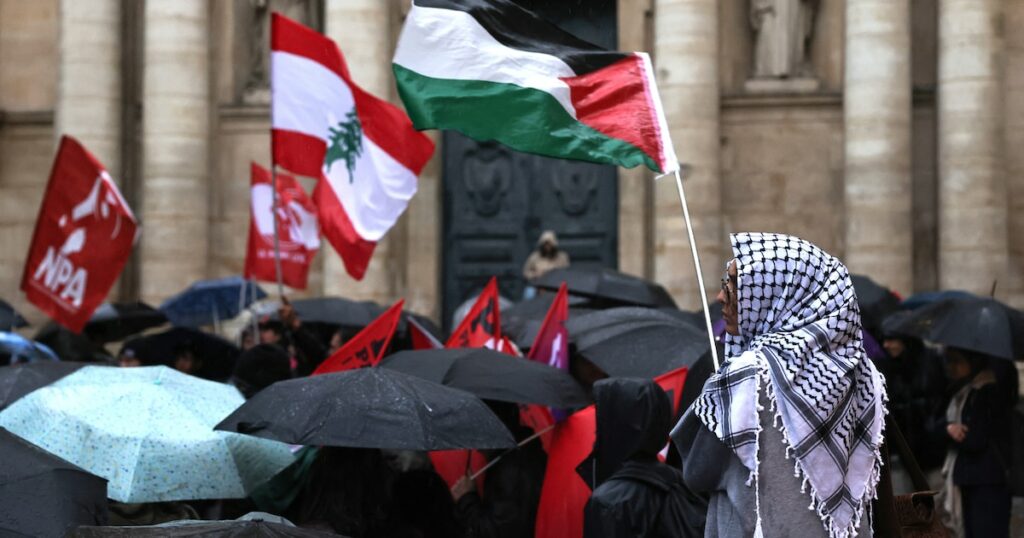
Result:
<svg viewBox="0 0 1024 538">
<path fill-rule="evenodd" d="M 850 523 L 846 527 L 840 528 L 838 527 L 835 518 L 833 518 L 833 515 L 830 514 L 825 513 L 824 499 L 822 499 L 818 495 L 818 492 L 814 488 L 814 485 L 811 484 L 810 477 L 808 477 L 801 467 L 802 463 L 800 461 L 800 458 L 796 457 L 796 455 L 794 454 L 793 442 L 790 441 L 790 434 L 788 432 L 786 432 L 785 427 L 782 424 L 782 412 L 779 411 L 778 409 L 778 400 L 775 396 L 775 387 L 772 386 L 771 383 L 771 376 L 769 372 L 768 363 L 767 361 L 761 361 L 761 363 L 762 364 L 758 365 L 758 375 L 756 376 L 757 383 L 759 385 L 758 394 L 760 395 L 761 392 L 760 385 L 763 384 L 765 386 L 765 395 L 768 397 L 769 409 L 772 413 L 772 425 L 776 429 L 778 429 L 778 431 L 782 434 L 782 444 L 785 445 L 785 459 L 794 460 L 793 475 L 803 479 L 800 486 L 800 492 L 806 494 L 808 493 L 808 490 L 810 490 L 811 503 L 807 507 L 807 509 L 814 510 L 818 514 L 818 519 L 820 519 L 821 523 L 824 525 L 825 531 L 828 532 L 829 538 L 852 538 L 856 536 L 857 530 L 860 529 L 860 524 L 861 520 L 863 519 L 865 508 L 870 505 L 869 503 L 871 500 L 878 498 L 878 486 L 879 486 L 879 481 L 882 478 L 882 450 L 881 450 L 882 433 L 880 432 L 879 439 L 877 440 L 877 443 L 874 444 L 874 448 L 872 450 L 874 457 L 873 457 L 873 462 L 871 464 L 871 471 L 867 477 L 867 484 L 865 485 L 864 493 L 861 496 L 861 498 L 858 499 L 857 505 L 854 507 L 853 518 L 850 520 Z M 889 406 L 887 405 L 889 402 L 889 397 L 885 385 L 885 378 L 879 375 L 879 380 L 881 381 L 880 398 L 882 399 L 881 407 L 883 411 L 883 420 L 884 420 L 885 416 L 889 414 Z M 758 400 L 760 401 L 760 398 Z M 764 410 L 764 406 L 762 406 L 760 402 L 757 405 L 757 410 L 758 410 L 758 427 L 756 430 L 756 440 L 758 445 L 757 448 L 755 449 L 755 454 L 760 455 L 760 450 L 761 450 L 760 442 L 761 442 L 761 430 L 762 430 L 760 417 L 761 417 L 761 411 Z M 760 457 L 755 457 L 754 461 L 755 461 L 755 469 L 751 471 L 751 479 L 748 480 L 746 484 L 748 486 L 750 486 L 751 480 L 755 481 L 757 480 L 758 468 L 761 467 Z M 755 497 L 757 504 L 757 522 L 758 522 L 757 525 L 760 528 L 761 526 L 760 491 L 756 492 Z"/>
</svg>

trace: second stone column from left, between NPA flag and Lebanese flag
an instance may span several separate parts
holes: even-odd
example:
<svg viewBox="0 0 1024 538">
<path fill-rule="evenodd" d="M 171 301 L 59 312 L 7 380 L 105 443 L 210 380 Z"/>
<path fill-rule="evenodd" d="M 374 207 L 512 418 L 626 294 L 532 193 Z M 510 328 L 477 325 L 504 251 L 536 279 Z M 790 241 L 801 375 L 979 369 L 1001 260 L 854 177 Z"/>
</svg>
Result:
<svg viewBox="0 0 1024 538">
<path fill-rule="evenodd" d="M 208 277 L 208 10 L 203 0 L 145 3 L 139 278 L 153 303 Z"/>
</svg>

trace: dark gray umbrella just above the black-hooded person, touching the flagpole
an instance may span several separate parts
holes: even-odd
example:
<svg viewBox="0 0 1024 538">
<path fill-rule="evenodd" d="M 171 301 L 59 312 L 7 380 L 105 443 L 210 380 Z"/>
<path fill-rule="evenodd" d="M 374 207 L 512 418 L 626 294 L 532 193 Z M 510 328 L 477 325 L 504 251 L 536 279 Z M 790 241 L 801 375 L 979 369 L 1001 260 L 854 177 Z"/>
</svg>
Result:
<svg viewBox="0 0 1024 538">
<path fill-rule="evenodd" d="M 612 377 L 652 378 L 710 351 L 703 330 L 650 308 L 610 308 L 566 324 L 577 353 Z"/>
</svg>

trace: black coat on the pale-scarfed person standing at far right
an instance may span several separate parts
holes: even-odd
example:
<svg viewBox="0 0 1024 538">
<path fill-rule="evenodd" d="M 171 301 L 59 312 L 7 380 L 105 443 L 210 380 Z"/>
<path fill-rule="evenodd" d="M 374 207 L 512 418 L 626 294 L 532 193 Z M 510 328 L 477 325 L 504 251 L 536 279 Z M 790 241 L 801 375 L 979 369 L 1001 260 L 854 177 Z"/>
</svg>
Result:
<svg viewBox="0 0 1024 538">
<path fill-rule="evenodd" d="M 967 426 L 957 451 L 953 483 L 957 486 L 1007 484 L 1010 470 L 1011 413 L 1000 387 L 990 383 L 971 390 L 961 419 Z"/>
</svg>

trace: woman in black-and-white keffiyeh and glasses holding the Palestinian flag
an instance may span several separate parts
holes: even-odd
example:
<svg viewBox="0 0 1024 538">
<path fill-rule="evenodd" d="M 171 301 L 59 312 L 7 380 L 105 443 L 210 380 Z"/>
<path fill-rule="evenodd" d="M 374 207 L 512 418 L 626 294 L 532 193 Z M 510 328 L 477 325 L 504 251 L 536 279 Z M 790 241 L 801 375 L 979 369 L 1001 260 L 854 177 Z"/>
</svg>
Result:
<svg viewBox="0 0 1024 538">
<path fill-rule="evenodd" d="M 847 270 L 795 237 L 731 240 L 726 362 L 673 431 L 706 536 L 870 536 L 886 395 Z"/>
</svg>

